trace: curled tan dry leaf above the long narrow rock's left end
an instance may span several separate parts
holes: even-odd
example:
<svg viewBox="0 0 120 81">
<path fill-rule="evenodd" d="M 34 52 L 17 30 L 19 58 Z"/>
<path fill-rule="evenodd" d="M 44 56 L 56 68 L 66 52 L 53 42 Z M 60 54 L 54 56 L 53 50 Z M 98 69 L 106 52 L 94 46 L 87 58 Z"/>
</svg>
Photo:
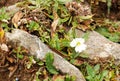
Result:
<svg viewBox="0 0 120 81">
<path fill-rule="evenodd" d="M 14 24 L 15 28 L 18 28 L 19 24 L 19 20 L 23 17 L 23 13 L 21 11 L 18 11 L 17 13 L 15 13 L 15 15 L 12 18 L 12 23 Z"/>
</svg>

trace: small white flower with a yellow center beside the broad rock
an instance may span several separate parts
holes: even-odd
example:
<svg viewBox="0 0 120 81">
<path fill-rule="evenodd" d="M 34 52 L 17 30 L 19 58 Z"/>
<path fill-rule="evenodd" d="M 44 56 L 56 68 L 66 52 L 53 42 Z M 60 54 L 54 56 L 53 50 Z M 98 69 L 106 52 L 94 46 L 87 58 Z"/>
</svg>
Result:
<svg viewBox="0 0 120 81">
<path fill-rule="evenodd" d="M 84 44 L 85 40 L 83 38 L 75 38 L 70 43 L 71 47 L 75 47 L 76 52 L 82 52 L 87 48 L 87 45 Z"/>
</svg>

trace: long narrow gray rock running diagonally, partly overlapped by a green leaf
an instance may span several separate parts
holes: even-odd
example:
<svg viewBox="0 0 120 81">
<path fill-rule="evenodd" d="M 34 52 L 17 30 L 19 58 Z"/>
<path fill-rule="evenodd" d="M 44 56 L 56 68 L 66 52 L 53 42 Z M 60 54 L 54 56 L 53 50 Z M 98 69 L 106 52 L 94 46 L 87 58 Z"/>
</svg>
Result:
<svg viewBox="0 0 120 81">
<path fill-rule="evenodd" d="M 38 37 L 30 35 L 29 33 L 19 29 L 14 29 L 12 33 L 7 32 L 5 37 L 8 44 L 11 44 L 12 46 L 23 46 L 29 50 L 30 55 L 34 55 L 41 60 L 45 58 L 46 53 L 52 52 L 54 54 L 53 65 L 56 69 L 59 69 L 63 73 L 76 76 L 76 81 L 85 81 L 79 69 L 49 49 L 48 46 L 42 43 Z"/>
</svg>

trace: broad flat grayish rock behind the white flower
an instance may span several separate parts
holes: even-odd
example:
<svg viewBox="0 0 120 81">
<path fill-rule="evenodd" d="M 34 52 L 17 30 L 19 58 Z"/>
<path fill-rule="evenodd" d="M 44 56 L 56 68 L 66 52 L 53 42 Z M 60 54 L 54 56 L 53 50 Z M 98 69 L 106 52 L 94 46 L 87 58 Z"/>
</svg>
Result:
<svg viewBox="0 0 120 81">
<path fill-rule="evenodd" d="M 85 33 L 81 30 L 76 30 L 76 34 L 78 37 L 82 37 Z M 87 49 L 85 52 L 90 55 L 91 59 L 113 56 L 116 60 L 120 61 L 120 44 L 106 39 L 95 31 L 90 31 L 88 37 L 86 41 Z"/>
</svg>

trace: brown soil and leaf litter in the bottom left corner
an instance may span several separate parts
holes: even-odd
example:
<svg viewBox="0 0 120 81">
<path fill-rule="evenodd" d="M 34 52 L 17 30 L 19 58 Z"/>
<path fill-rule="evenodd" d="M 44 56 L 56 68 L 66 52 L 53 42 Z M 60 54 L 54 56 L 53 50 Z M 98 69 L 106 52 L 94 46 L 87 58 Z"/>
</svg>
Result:
<svg viewBox="0 0 120 81">
<path fill-rule="evenodd" d="M 20 59 L 13 50 L 9 53 L 0 51 L 0 81 L 15 81 L 17 78 L 19 81 L 32 81 L 35 78 L 39 66 L 33 64 L 27 69 L 26 63 L 29 63 L 30 59 L 26 52 L 22 54 L 24 57 Z"/>
</svg>

